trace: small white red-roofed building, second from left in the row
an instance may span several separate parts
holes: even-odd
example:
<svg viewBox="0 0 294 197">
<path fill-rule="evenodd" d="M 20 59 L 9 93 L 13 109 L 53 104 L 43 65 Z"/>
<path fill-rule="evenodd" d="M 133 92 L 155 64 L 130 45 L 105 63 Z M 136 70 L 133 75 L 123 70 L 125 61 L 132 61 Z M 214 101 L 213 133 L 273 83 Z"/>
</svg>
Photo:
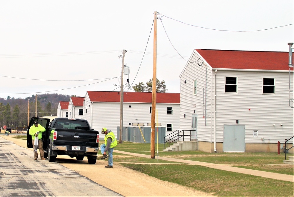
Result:
<svg viewBox="0 0 294 197">
<path fill-rule="evenodd" d="M 84 97 L 71 97 L 69 100 L 69 118 L 83 118 L 83 101 Z"/>
</svg>

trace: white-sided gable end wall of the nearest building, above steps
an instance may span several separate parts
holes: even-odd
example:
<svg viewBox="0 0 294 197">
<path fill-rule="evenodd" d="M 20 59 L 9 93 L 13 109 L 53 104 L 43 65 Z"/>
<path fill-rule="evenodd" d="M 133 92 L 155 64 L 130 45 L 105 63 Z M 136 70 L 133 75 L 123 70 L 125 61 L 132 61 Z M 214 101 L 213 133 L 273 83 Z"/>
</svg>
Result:
<svg viewBox="0 0 294 197">
<path fill-rule="evenodd" d="M 211 142 L 214 137 L 213 73 L 210 66 L 204 63 L 201 65 L 203 59 L 199 59 L 197 53 L 193 54 L 190 62 L 181 76 L 180 128 L 191 130 L 192 114 L 197 114 L 197 138 Z M 197 80 L 196 95 L 193 95 L 194 80 Z"/>
</svg>

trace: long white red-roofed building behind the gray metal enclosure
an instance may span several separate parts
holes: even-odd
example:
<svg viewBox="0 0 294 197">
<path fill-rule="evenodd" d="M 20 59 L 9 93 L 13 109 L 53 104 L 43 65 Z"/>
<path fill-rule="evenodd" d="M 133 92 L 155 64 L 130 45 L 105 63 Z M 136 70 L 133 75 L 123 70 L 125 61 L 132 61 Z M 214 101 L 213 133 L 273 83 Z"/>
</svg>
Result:
<svg viewBox="0 0 294 197">
<path fill-rule="evenodd" d="M 151 96 L 151 92 L 123 92 L 123 126 L 151 123 Z M 91 128 L 101 131 L 106 127 L 118 137 L 120 92 L 87 91 L 83 109 Z M 180 129 L 180 93 L 157 93 L 156 109 L 156 120 L 166 127 L 166 135 Z"/>
</svg>

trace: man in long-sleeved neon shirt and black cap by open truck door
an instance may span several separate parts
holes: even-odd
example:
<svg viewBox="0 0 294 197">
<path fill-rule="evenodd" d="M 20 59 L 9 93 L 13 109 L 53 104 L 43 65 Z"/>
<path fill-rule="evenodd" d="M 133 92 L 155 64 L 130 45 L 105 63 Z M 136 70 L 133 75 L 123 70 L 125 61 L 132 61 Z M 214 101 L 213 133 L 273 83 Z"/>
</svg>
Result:
<svg viewBox="0 0 294 197">
<path fill-rule="evenodd" d="M 32 136 L 32 142 L 34 144 L 35 139 L 38 139 L 38 148 L 40 151 L 41 160 L 46 160 L 44 158 L 44 149 L 43 149 L 43 141 L 42 141 L 42 132 L 46 131 L 46 129 L 38 123 L 38 121 L 34 121 L 34 125 L 30 127 L 29 134 Z M 38 152 L 34 151 L 35 160 L 38 159 Z"/>
</svg>

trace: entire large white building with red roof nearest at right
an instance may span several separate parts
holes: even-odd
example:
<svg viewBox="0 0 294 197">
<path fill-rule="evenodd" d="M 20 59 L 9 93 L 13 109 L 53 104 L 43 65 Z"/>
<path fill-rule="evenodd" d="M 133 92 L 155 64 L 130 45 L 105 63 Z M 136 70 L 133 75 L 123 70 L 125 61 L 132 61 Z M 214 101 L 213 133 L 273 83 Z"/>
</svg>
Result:
<svg viewBox="0 0 294 197">
<path fill-rule="evenodd" d="M 201 151 L 277 152 L 278 141 L 294 135 L 288 59 L 288 52 L 195 49 L 180 74 L 180 128 L 197 131 Z"/>
</svg>

